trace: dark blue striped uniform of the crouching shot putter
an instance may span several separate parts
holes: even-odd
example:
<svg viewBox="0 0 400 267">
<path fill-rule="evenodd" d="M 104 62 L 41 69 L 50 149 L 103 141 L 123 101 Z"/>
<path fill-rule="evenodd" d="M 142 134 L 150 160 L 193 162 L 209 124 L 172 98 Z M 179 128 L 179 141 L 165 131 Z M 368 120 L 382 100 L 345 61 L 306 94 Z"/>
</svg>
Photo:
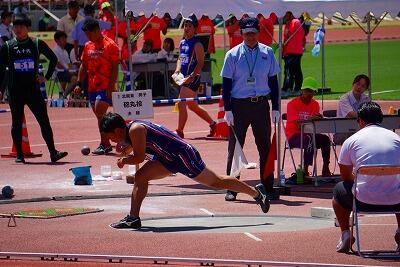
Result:
<svg viewBox="0 0 400 267">
<path fill-rule="evenodd" d="M 194 178 L 206 167 L 197 149 L 167 128 L 148 121 L 135 120 L 128 124 L 127 133 L 133 124 L 141 124 L 147 130 L 146 154 L 150 160 L 159 161 L 170 172 L 179 172 Z M 127 139 L 132 145 L 129 135 Z"/>
</svg>

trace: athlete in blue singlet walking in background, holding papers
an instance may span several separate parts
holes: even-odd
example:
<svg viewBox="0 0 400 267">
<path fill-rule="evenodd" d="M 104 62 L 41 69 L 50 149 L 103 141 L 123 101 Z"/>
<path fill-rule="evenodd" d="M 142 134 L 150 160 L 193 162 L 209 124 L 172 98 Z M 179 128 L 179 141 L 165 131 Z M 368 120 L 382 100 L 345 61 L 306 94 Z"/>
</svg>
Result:
<svg viewBox="0 0 400 267">
<path fill-rule="evenodd" d="M 192 98 L 197 97 L 197 90 L 200 86 L 200 73 L 204 66 L 204 48 L 195 36 L 197 19 L 192 16 L 184 20 L 184 39 L 179 45 L 179 58 L 176 62 L 175 73 L 182 73 L 185 77 L 180 88 L 179 97 Z M 210 133 L 207 136 L 212 137 L 215 135 L 216 122 L 211 119 L 207 111 L 199 106 L 196 101 L 182 101 L 178 103 L 178 106 L 179 118 L 176 133 L 180 137 L 184 138 L 183 129 L 188 118 L 186 106 L 209 124 Z"/>
</svg>

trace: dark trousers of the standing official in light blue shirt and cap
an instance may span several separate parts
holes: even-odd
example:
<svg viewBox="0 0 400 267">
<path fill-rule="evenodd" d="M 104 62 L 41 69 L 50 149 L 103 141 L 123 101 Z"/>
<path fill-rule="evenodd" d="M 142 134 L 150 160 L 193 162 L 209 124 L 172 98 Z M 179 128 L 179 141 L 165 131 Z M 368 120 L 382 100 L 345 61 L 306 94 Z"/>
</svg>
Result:
<svg viewBox="0 0 400 267">
<path fill-rule="evenodd" d="M 264 177 L 264 167 L 267 161 L 269 148 L 271 146 L 271 119 L 267 97 L 259 97 L 257 101 L 255 101 L 254 98 L 232 98 L 231 103 L 232 114 L 234 118 L 233 129 L 242 147 L 245 143 L 247 129 L 251 125 L 259 155 L 260 180 L 266 187 L 267 191 L 271 192 L 274 182 L 273 176 Z M 230 174 L 235 144 L 235 136 L 233 135 L 232 131 L 230 131 L 228 144 L 228 163 L 226 168 L 227 175 Z"/>
</svg>

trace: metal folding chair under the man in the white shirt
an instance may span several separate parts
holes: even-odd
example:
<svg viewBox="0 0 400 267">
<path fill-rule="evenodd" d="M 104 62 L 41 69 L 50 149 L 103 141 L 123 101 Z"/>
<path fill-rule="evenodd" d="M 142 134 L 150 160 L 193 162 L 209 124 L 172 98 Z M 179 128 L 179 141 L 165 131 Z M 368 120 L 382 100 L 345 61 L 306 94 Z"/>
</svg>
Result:
<svg viewBox="0 0 400 267">
<path fill-rule="evenodd" d="M 385 164 L 377 164 L 377 165 L 363 165 L 360 166 L 355 173 L 354 179 L 354 196 L 353 196 L 353 223 L 351 225 L 351 235 L 350 238 L 353 237 L 353 232 L 355 228 L 356 234 L 356 245 L 357 251 L 351 248 L 351 251 L 354 253 L 358 253 L 362 257 L 370 257 L 370 258 L 400 258 L 400 252 L 393 250 L 362 250 L 361 249 L 361 240 L 360 240 L 360 223 L 358 217 L 360 214 L 369 214 L 369 215 L 381 215 L 381 214 L 396 214 L 400 213 L 400 207 L 396 209 L 366 209 L 360 208 L 357 201 L 357 179 L 359 175 L 373 175 L 375 177 L 379 177 L 384 179 L 385 176 L 388 175 L 397 175 L 397 179 L 400 179 L 400 165 L 385 165 Z M 400 194 L 400 192 L 399 192 Z M 350 240 L 351 242 L 351 240 Z"/>
</svg>

